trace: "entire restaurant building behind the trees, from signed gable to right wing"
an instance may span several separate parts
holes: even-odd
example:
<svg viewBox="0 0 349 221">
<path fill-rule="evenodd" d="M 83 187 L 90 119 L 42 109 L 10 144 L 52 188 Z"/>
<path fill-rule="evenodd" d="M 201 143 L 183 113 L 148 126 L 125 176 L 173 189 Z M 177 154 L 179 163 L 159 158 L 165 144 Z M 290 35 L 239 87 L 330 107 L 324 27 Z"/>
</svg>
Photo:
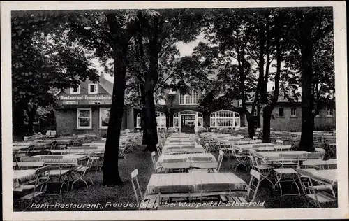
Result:
<svg viewBox="0 0 349 221">
<path fill-rule="evenodd" d="M 112 104 L 113 83 L 101 74 L 98 83 L 89 80 L 76 88 L 69 88 L 57 94 L 60 108 L 56 110 L 56 130 L 58 135 L 91 134 L 105 136 Z M 290 101 L 282 91 L 272 113 L 271 128 L 276 131 L 301 131 L 301 101 Z M 188 94 L 165 90 L 156 105 L 158 130 L 174 128 L 181 132 L 194 133 L 200 128 L 228 129 L 247 127 L 246 116 L 240 113 L 239 101 L 231 110 L 204 113 L 199 109 L 199 101 L 205 92 L 191 90 Z M 246 102 L 251 110 L 252 101 Z M 142 111 L 125 106 L 121 129 L 142 129 Z M 255 127 L 262 128 L 262 110 L 255 110 Z M 315 129 L 336 127 L 334 109 L 323 109 L 315 117 Z"/>
</svg>

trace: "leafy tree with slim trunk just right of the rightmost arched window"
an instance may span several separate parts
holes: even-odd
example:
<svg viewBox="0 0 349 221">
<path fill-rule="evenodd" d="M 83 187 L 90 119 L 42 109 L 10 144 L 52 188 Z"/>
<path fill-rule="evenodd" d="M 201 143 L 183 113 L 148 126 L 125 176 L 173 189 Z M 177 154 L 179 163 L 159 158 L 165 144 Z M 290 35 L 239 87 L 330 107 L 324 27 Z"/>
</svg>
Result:
<svg viewBox="0 0 349 221">
<path fill-rule="evenodd" d="M 255 135 L 253 112 L 258 106 L 261 87 L 260 82 L 255 82 L 253 57 L 248 55 L 255 46 L 255 31 L 251 24 L 258 20 L 255 17 L 254 20 L 251 18 L 255 16 L 252 13 L 242 9 L 211 10 L 207 15 L 209 19 L 205 28 L 205 38 L 209 44 L 201 43 L 197 48 L 202 55 L 203 64 L 208 68 L 223 71 L 221 76 L 226 74 L 224 71 L 228 71 L 230 78 L 234 78 L 233 85 L 229 86 L 238 91 L 234 93 L 235 98 L 241 101 L 242 113 L 246 115 L 248 134 L 251 138 Z M 220 69 L 222 66 L 224 68 Z M 229 75 L 225 76 L 227 77 L 229 78 Z M 253 97 L 251 92 L 255 92 Z M 251 110 L 248 110 L 248 101 L 253 102 Z"/>
</svg>

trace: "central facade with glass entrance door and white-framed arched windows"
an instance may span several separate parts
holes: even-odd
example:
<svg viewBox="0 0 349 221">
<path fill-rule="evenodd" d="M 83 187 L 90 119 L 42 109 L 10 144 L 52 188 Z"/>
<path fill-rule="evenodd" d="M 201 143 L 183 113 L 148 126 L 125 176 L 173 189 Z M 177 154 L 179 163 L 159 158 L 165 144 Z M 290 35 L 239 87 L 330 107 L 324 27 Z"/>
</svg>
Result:
<svg viewBox="0 0 349 221">
<path fill-rule="evenodd" d="M 199 101 L 204 93 L 191 90 L 188 94 L 179 91 L 166 91 L 163 99 L 158 101 L 156 122 L 158 129 L 174 128 L 177 131 L 194 133 L 203 128 L 235 128 L 240 127 L 240 114 L 232 110 L 218 110 L 213 113 L 202 113 Z M 135 127 L 142 128 L 142 113 L 137 110 Z"/>
</svg>

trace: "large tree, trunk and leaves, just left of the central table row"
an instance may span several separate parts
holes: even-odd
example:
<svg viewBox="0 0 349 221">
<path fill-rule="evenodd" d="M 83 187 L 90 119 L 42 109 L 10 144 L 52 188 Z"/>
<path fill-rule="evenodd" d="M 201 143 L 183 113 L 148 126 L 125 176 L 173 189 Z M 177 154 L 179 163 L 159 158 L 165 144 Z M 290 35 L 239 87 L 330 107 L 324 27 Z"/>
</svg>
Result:
<svg viewBox="0 0 349 221">
<path fill-rule="evenodd" d="M 188 43 L 200 34 L 200 10 L 157 10 L 156 16 L 138 11 L 135 22 L 135 59 L 133 73 L 138 78 L 142 101 L 143 144 L 155 151 L 158 143 L 154 92 L 167 78 L 179 72 L 174 66 L 179 52 L 175 43 Z"/>
</svg>

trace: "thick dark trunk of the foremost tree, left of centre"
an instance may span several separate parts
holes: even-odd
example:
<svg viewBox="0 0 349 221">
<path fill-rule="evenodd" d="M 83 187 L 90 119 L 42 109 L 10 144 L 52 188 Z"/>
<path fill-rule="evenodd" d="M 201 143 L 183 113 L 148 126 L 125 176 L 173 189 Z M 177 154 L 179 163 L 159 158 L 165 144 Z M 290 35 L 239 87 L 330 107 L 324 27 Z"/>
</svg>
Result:
<svg viewBox="0 0 349 221">
<path fill-rule="evenodd" d="M 107 15 L 107 22 L 113 36 L 112 49 L 114 52 L 114 86 L 112 90 L 112 106 L 110 108 L 107 141 L 105 143 L 103 164 L 103 185 L 122 185 L 119 175 L 119 140 L 121 122 L 124 115 L 124 97 L 126 87 L 126 66 L 128 53 L 128 40 L 121 36 L 119 26 L 114 14 Z"/>
</svg>

